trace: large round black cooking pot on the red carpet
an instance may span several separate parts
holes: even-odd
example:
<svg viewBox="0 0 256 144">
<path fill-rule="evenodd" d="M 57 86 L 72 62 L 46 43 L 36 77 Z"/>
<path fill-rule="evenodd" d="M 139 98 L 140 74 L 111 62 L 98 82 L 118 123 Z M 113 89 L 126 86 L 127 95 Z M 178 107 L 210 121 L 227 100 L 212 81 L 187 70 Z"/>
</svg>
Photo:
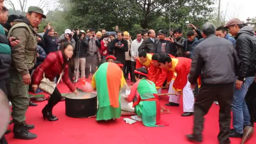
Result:
<svg viewBox="0 0 256 144">
<path fill-rule="evenodd" d="M 96 115 L 97 95 L 79 91 L 78 95 L 69 93 L 65 96 L 66 115 L 83 118 Z"/>
</svg>

